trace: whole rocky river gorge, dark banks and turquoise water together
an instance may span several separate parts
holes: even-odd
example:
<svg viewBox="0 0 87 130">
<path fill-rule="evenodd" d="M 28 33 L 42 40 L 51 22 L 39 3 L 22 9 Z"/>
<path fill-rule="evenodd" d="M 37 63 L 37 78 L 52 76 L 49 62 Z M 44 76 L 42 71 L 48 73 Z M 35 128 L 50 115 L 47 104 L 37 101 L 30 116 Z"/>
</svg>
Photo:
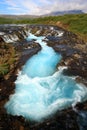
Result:
<svg viewBox="0 0 87 130">
<path fill-rule="evenodd" d="M 69 130 L 72 127 L 74 130 L 85 130 L 86 43 L 72 32 L 47 25 L 1 26 L 0 39 L 13 44 L 21 52 L 15 70 L 17 76 L 12 81 L 14 89 L 11 91 L 14 92 L 8 94 L 8 99 L 3 99 L 1 94 L 1 110 L 4 109 L 1 119 L 10 119 L 8 124 L 12 120 L 18 122 L 18 119 L 21 124 L 26 119 L 23 125 L 17 124 L 18 128 L 25 130 L 27 126 L 30 129 L 54 127 Z M 11 77 L 14 75 L 12 73 Z M 11 87 L 9 85 L 5 85 L 6 90 Z M 35 123 L 30 125 L 32 122 Z M 27 125 L 24 127 L 24 124 Z M 8 127 L 10 129 L 10 124 Z"/>
</svg>

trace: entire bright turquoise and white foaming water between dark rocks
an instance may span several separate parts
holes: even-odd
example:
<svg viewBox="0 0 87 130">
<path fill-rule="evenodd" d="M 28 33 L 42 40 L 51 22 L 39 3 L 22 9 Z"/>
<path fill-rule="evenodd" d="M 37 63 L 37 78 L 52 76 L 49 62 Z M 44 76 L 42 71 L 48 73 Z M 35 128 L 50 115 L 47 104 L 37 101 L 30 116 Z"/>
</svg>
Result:
<svg viewBox="0 0 87 130">
<path fill-rule="evenodd" d="M 30 33 L 42 50 L 24 65 L 15 81 L 15 93 L 5 104 L 8 114 L 22 115 L 27 120 L 41 121 L 58 110 L 75 106 L 87 99 L 87 88 L 75 77 L 63 75 L 66 67 L 57 68 L 62 56 L 44 42 L 45 37 Z"/>
</svg>

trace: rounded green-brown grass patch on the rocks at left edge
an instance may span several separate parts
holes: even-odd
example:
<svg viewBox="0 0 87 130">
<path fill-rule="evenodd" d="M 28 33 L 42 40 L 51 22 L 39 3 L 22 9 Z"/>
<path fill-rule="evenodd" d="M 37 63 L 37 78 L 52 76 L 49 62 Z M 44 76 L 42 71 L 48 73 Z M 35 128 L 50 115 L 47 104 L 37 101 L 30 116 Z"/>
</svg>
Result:
<svg viewBox="0 0 87 130">
<path fill-rule="evenodd" d="M 6 75 L 15 65 L 16 52 L 11 44 L 0 43 L 0 77 Z"/>
</svg>

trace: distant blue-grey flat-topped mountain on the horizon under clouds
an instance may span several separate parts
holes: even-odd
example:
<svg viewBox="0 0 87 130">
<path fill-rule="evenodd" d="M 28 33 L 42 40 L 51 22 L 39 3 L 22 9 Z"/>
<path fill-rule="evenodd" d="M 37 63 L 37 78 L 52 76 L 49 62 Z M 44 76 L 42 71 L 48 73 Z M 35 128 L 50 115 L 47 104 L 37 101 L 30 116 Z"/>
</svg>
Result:
<svg viewBox="0 0 87 130">
<path fill-rule="evenodd" d="M 58 16 L 58 15 L 64 15 L 64 14 L 83 14 L 84 12 L 82 10 L 68 10 L 68 11 L 56 11 L 51 12 L 49 14 L 45 14 L 44 16 Z"/>
</svg>

